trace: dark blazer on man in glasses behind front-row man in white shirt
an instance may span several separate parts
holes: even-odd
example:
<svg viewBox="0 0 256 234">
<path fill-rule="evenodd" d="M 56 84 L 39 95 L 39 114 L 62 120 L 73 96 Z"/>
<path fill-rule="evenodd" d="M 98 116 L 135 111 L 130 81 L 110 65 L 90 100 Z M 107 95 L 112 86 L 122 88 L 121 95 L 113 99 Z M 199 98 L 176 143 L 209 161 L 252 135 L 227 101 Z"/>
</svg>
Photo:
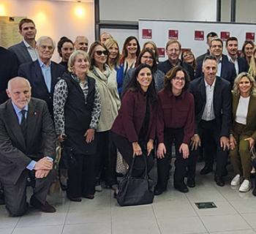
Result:
<svg viewBox="0 0 256 234">
<path fill-rule="evenodd" d="M 203 60 L 200 61 L 200 63 L 197 64 L 197 67 L 195 69 L 195 78 L 199 78 L 203 76 Z M 227 56 L 222 54 L 222 71 L 220 72 L 220 77 L 228 80 L 231 84 L 231 87 L 233 86 L 234 79 L 236 78 L 236 69 L 234 67 L 234 64 L 230 63 L 228 61 Z"/>
</svg>

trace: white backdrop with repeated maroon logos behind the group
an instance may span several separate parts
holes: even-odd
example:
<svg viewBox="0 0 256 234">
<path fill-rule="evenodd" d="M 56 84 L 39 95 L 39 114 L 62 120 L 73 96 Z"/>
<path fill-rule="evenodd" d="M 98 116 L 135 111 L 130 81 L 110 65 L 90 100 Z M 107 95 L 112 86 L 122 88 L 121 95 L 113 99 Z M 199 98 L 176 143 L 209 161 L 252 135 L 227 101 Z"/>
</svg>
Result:
<svg viewBox="0 0 256 234">
<path fill-rule="evenodd" d="M 241 49 L 246 39 L 246 33 L 251 38 L 255 37 L 256 24 L 140 19 L 138 38 L 140 45 L 143 45 L 148 40 L 153 40 L 156 42 L 157 48 L 165 48 L 166 42 L 169 39 L 169 30 L 172 30 L 172 36 L 178 37 L 182 48 L 191 48 L 195 56 L 199 56 L 202 53 L 206 53 L 208 48 L 206 45 L 206 35 L 208 32 L 215 31 L 219 37 L 221 37 L 221 32 L 222 36 L 225 37 L 237 37 L 239 49 Z M 198 39 L 195 39 L 195 31 L 198 31 L 197 33 L 200 35 Z M 203 37 L 201 37 L 201 31 L 203 31 Z M 225 50 L 224 53 L 226 53 Z M 165 59 L 166 55 L 165 58 L 160 60 Z"/>
</svg>

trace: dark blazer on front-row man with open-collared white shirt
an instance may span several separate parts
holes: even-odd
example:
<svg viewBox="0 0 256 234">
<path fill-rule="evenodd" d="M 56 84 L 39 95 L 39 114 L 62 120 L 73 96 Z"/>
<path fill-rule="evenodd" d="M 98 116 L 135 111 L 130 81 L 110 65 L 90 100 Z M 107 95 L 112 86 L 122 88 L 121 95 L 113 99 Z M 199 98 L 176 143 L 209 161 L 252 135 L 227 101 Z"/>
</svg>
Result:
<svg viewBox="0 0 256 234">
<path fill-rule="evenodd" d="M 198 131 L 206 105 L 206 84 L 203 77 L 192 80 L 189 91 L 195 99 L 195 129 Z M 216 77 L 214 86 L 214 116 L 221 136 L 228 137 L 231 124 L 231 91 L 227 80 Z"/>
</svg>

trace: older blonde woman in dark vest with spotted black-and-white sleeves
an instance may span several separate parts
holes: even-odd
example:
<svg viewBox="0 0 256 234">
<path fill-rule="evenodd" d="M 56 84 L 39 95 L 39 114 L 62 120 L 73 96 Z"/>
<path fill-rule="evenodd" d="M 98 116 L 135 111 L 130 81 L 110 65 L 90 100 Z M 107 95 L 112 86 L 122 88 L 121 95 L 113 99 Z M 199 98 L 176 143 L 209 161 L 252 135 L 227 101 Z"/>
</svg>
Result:
<svg viewBox="0 0 256 234">
<path fill-rule="evenodd" d="M 75 158 L 67 181 L 67 197 L 75 202 L 80 202 L 81 197 L 94 198 L 94 135 L 101 106 L 95 80 L 87 77 L 89 67 L 88 54 L 75 50 L 69 57 L 69 72 L 56 83 L 53 94 L 56 134 L 64 147 L 72 149 L 69 154 Z"/>
</svg>

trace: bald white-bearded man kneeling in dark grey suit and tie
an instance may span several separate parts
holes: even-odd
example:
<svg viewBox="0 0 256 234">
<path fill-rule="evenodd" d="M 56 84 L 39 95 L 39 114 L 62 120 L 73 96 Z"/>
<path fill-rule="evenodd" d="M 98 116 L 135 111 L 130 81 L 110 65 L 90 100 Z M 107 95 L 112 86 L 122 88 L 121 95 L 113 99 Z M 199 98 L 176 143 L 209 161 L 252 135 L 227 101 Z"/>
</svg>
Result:
<svg viewBox="0 0 256 234">
<path fill-rule="evenodd" d="M 31 86 L 25 78 L 8 82 L 7 102 L 0 105 L 0 181 L 10 216 L 28 211 L 27 178 L 34 178 L 30 205 L 39 211 L 56 209 L 46 201 L 55 173 L 53 156 L 56 135 L 45 101 L 31 98 Z"/>
</svg>

